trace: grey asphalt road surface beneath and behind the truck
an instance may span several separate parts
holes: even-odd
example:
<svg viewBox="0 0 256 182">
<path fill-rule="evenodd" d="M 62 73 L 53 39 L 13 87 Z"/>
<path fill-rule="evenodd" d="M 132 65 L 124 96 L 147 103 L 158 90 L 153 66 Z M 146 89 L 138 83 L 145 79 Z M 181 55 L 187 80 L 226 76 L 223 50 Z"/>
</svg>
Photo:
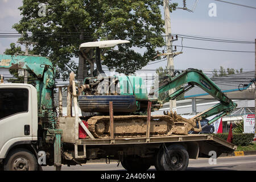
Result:
<svg viewBox="0 0 256 182">
<path fill-rule="evenodd" d="M 210 160 L 213 162 L 213 160 Z M 43 167 L 44 171 L 53 171 L 55 167 Z M 117 167 L 116 162 L 106 163 L 86 163 L 82 166 L 64 165 L 62 171 L 125 171 L 121 163 Z M 155 167 L 151 166 L 150 171 L 155 171 Z M 216 164 L 209 164 L 209 159 L 190 159 L 188 171 L 256 171 L 256 155 L 222 157 L 216 159 Z"/>
</svg>

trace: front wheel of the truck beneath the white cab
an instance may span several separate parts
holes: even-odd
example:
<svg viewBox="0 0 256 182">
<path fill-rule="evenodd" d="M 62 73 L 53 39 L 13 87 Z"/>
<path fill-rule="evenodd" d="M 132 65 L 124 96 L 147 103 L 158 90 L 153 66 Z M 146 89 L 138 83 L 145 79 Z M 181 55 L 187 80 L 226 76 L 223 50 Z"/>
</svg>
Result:
<svg viewBox="0 0 256 182">
<path fill-rule="evenodd" d="M 32 152 L 17 148 L 11 151 L 4 161 L 5 171 L 36 171 L 38 162 Z"/>
</svg>

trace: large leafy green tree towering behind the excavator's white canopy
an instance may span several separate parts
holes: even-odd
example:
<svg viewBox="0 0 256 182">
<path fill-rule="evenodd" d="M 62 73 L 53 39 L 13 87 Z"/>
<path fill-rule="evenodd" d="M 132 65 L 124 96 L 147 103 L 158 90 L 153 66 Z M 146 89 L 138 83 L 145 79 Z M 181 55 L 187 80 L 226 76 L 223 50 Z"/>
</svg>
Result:
<svg viewBox="0 0 256 182">
<path fill-rule="evenodd" d="M 129 44 L 118 50 L 102 49 L 103 64 L 117 72 L 134 73 L 156 56 L 156 47 L 164 46 L 164 21 L 160 13 L 162 0 L 23 0 L 19 7 L 22 19 L 14 28 L 24 36 L 20 40 L 36 42 L 34 51 L 48 56 L 66 78 L 77 65 L 71 59 L 79 57 L 79 76 L 90 75 L 94 69 L 93 49 L 80 52 L 84 42 L 126 39 Z M 41 4 L 42 5 L 42 4 Z M 170 6 L 175 10 L 177 4 Z M 45 8 L 46 16 L 39 16 Z M 144 53 L 134 49 L 143 49 Z"/>
</svg>

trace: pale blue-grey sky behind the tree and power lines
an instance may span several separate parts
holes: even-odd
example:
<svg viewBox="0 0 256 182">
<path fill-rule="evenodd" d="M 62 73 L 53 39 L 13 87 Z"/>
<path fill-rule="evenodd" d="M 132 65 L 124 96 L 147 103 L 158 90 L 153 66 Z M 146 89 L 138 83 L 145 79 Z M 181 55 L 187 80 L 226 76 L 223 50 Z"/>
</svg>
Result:
<svg viewBox="0 0 256 182">
<path fill-rule="evenodd" d="M 256 7 L 255 0 L 225 0 L 242 5 Z M 172 0 L 183 7 L 182 0 Z M 187 1 L 187 8 L 192 9 L 196 0 Z M 208 7 L 210 3 L 216 4 L 216 16 L 210 17 Z M 21 16 L 18 7 L 22 6 L 21 0 L 0 0 L 0 32 L 15 32 L 12 28 L 18 23 Z M 162 11 L 163 16 L 163 11 Z M 254 42 L 256 35 L 256 9 L 231 5 L 214 0 L 199 0 L 193 13 L 185 10 L 176 10 L 171 13 L 172 34 L 200 36 L 214 39 L 243 40 Z M 0 53 L 10 47 L 10 43 L 16 42 L 17 38 L 0 38 Z M 208 51 L 202 49 L 182 49 L 183 53 L 174 57 L 175 69 L 197 68 L 203 71 L 212 71 L 214 68 L 243 68 L 243 71 L 255 69 L 255 45 L 207 42 L 200 40 L 183 39 L 183 46 L 208 49 L 225 49 L 241 52 Z M 181 46 L 181 38 L 173 45 Z M 24 49 L 24 46 L 22 46 Z M 138 52 L 143 52 L 137 49 Z M 181 47 L 177 47 L 177 52 Z M 155 70 L 159 67 L 166 67 L 167 61 L 150 64 L 142 69 Z"/>
</svg>

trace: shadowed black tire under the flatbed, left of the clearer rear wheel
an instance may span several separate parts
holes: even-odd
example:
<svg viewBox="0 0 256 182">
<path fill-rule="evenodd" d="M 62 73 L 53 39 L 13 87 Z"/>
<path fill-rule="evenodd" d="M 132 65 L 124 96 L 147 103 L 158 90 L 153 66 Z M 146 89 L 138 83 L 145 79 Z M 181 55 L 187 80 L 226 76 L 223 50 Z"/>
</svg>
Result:
<svg viewBox="0 0 256 182">
<path fill-rule="evenodd" d="M 147 171 L 151 167 L 151 164 L 139 156 L 124 156 L 121 164 L 127 171 Z"/>
</svg>

